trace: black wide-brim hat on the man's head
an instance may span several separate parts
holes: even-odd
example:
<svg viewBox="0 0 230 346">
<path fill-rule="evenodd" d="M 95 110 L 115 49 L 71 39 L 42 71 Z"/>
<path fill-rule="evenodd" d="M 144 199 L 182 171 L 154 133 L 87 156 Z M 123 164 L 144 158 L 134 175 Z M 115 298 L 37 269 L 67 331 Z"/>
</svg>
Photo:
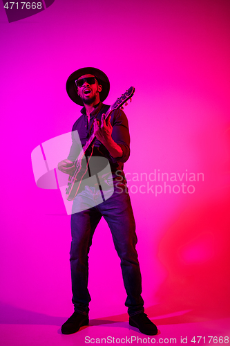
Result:
<svg viewBox="0 0 230 346">
<path fill-rule="evenodd" d="M 94 75 L 95 78 L 97 78 L 99 84 L 102 85 L 102 91 L 100 92 L 100 100 L 102 102 L 106 100 L 110 89 L 110 83 L 106 74 L 99 69 L 95 69 L 95 67 L 84 67 L 83 69 L 79 69 L 73 72 L 69 76 L 66 82 L 66 91 L 70 99 L 73 102 L 79 104 L 80 106 L 84 106 L 82 99 L 79 97 L 79 95 L 77 95 L 77 86 L 75 84 L 75 80 L 78 80 L 78 78 L 82 75 Z"/>
</svg>

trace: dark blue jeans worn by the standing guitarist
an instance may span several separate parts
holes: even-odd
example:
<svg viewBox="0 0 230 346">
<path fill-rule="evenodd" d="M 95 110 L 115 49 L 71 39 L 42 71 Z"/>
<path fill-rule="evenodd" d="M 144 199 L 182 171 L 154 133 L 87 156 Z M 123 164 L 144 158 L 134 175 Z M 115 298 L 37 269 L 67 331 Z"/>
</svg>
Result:
<svg viewBox="0 0 230 346">
<path fill-rule="evenodd" d="M 120 185 L 119 185 L 120 186 Z M 73 291 L 73 304 L 75 311 L 88 314 L 88 253 L 92 244 L 93 233 L 102 216 L 111 229 L 113 243 L 121 260 L 122 276 L 127 298 L 129 316 L 144 311 L 142 299 L 142 277 L 137 260 L 137 235 L 135 233 L 135 220 L 129 194 L 122 188 L 114 187 L 113 195 L 93 208 L 71 215 L 72 242 L 70 249 L 70 268 Z M 121 193 L 122 192 L 122 193 Z M 79 203 L 88 203 L 102 198 L 98 188 L 86 186 L 85 190 L 77 194 L 73 203 L 79 208 Z M 78 209 L 79 210 L 79 209 Z"/>
</svg>

